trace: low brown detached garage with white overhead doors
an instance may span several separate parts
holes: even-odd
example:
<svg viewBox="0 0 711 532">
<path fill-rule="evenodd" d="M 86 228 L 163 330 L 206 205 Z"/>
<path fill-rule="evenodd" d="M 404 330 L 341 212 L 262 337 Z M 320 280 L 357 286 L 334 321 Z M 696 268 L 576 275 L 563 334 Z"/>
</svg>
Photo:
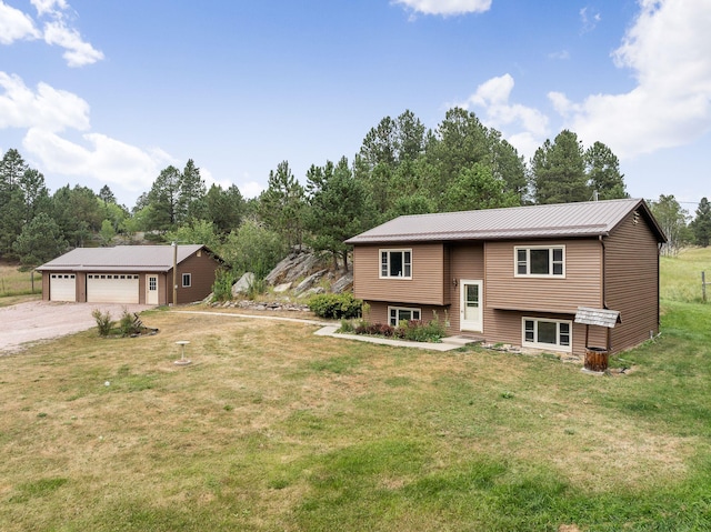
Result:
<svg viewBox="0 0 711 532">
<path fill-rule="evenodd" d="M 178 303 L 204 299 L 221 260 L 201 244 L 77 248 L 42 264 L 42 299 L 89 303 L 169 304 L 173 302 L 173 261 Z"/>
</svg>

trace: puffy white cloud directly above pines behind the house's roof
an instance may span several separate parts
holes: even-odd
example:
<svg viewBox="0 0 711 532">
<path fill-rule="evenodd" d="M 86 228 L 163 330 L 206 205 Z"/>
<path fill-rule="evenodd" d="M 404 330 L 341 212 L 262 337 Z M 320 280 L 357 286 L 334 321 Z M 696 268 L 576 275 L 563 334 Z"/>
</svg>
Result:
<svg viewBox="0 0 711 532">
<path fill-rule="evenodd" d="M 537 109 L 510 103 L 513 78 L 503 74 L 492 78 L 477 88 L 465 102 L 458 107 L 477 110 L 481 122 L 502 132 L 503 137 L 524 157 L 531 157 L 548 134 L 548 117 Z"/>
</svg>

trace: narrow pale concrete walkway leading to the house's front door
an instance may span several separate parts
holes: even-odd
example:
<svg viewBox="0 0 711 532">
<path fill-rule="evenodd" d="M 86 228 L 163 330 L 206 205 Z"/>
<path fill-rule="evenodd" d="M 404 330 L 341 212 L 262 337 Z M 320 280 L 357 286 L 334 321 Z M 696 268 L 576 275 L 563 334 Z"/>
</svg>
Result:
<svg viewBox="0 0 711 532">
<path fill-rule="evenodd" d="M 233 314 L 228 312 L 209 312 L 200 310 L 173 310 L 170 312 L 179 312 L 184 314 L 204 314 L 204 315 L 223 315 L 228 318 L 243 318 L 243 319 L 257 319 L 257 320 L 277 320 L 277 321 L 291 321 L 294 323 L 307 323 L 309 325 L 320 325 L 321 329 L 314 332 L 318 337 L 333 337 L 344 340 L 356 340 L 358 342 L 378 343 L 381 345 L 392 345 L 397 348 L 413 348 L 413 349 L 429 349 L 430 351 L 452 351 L 459 349 L 469 343 L 477 343 L 477 340 L 463 337 L 445 337 L 441 343 L 432 342 L 410 342 L 407 340 L 391 340 L 389 338 L 367 337 L 364 334 L 342 334 L 338 333 L 339 325 L 334 325 L 330 322 L 307 320 L 303 318 L 284 318 L 281 315 L 262 315 L 262 314 Z"/>
</svg>

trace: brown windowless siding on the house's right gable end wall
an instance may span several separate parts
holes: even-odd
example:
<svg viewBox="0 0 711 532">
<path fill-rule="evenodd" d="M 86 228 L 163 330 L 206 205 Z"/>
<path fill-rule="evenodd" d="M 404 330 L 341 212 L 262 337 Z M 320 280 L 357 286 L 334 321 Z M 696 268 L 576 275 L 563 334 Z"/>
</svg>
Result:
<svg viewBox="0 0 711 532">
<path fill-rule="evenodd" d="M 622 351 L 659 332 L 659 248 L 645 220 L 631 212 L 604 239 L 604 298 L 620 311 L 612 330 L 612 349 Z"/>
</svg>

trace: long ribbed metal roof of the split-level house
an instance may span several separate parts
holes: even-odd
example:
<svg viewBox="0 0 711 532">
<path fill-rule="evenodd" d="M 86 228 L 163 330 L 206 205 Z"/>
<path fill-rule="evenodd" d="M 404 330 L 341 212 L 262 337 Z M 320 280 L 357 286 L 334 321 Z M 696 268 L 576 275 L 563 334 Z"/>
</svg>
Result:
<svg viewBox="0 0 711 532">
<path fill-rule="evenodd" d="M 443 240 L 507 240 L 531 238 L 605 237 L 631 211 L 639 210 L 660 242 L 667 238 L 644 200 L 623 199 L 512 207 L 480 211 L 404 215 L 346 242 L 423 242 Z"/>
</svg>

